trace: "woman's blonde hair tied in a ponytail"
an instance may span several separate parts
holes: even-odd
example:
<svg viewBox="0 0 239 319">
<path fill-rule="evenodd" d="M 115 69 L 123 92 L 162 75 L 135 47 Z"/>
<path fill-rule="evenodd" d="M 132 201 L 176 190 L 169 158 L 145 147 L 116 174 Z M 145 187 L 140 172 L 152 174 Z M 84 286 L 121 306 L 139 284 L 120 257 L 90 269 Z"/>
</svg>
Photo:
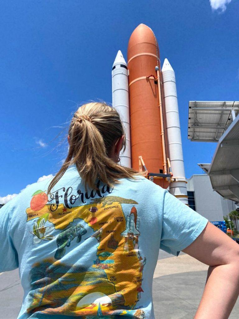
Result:
<svg viewBox="0 0 239 319">
<path fill-rule="evenodd" d="M 121 166 L 110 158 L 114 143 L 122 135 L 124 126 L 116 109 L 105 102 L 83 104 L 74 114 L 69 127 L 69 152 L 59 172 L 50 182 L 47 193 L 61 179 L 67 168 L 76 164 L 81 178 L 96 189 L 97 179 L 112 186 L 120 178 L 136 179 L 134 169 Z M 126 139 L 123 141 L 123 150 Z"/>
</svg>

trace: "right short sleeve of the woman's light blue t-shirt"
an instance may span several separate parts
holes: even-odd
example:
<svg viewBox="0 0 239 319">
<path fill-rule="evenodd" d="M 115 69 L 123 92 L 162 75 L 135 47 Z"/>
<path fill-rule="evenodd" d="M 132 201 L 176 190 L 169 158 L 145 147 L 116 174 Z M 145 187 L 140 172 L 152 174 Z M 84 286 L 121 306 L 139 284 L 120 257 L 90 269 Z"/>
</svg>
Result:
<svg viewBox="0 0 239 319">
<path fill-rule="evenodd" d="M 165 190 L 160 249 L 178 256 L 201 234 L 207 222 L 208 219 Z"/>
</svg>

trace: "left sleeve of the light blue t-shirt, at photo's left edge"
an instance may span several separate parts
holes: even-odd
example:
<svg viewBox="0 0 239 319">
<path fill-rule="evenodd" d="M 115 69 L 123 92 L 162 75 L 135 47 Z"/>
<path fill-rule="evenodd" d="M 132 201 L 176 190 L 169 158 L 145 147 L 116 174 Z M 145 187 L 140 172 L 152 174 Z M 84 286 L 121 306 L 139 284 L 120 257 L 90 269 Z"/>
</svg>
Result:
<svg viewBox="0 0 239 319">
<path fill-rule="evenodd" d="M 9 210 L 10 203 L 0 209 L 0 272 L 18 268 L 18 253 L 11 238 Z"/>
</svg>

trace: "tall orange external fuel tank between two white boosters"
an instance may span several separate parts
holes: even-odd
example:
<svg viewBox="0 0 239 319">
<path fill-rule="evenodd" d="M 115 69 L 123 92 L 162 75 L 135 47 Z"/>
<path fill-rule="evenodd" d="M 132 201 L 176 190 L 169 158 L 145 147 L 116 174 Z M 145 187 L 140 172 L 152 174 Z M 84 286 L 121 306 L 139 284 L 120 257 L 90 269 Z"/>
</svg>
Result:
<svg viewBox="0 0 239 319">
<path fill-rule="evenodd" d="M 140 24 L 128 44 L 132 167 L 139 170 L 142 156 L 148 172 L 159 174 L 165 169 L 156 66 L 160 71 L 157 40 L 148 26 Z M 166 178 L 155 178 L 154 182 L 163 188 L 169 186 Z"/>
</svg>

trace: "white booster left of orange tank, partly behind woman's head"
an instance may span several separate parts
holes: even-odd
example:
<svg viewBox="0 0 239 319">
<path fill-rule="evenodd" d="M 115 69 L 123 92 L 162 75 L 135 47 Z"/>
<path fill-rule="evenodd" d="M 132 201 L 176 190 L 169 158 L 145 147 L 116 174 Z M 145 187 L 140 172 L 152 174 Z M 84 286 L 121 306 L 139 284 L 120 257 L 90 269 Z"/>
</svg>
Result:
<svg viewBox="0 0 239 319">
<path fill-rule="evenodd" d="M 120 164 L 131 167 L 128 90 L 127 63 L 119 50 L 112 67 L 112 106 L 120 114 L 126 131 L 126 149 L 120 153 Z"/>
</svg>

